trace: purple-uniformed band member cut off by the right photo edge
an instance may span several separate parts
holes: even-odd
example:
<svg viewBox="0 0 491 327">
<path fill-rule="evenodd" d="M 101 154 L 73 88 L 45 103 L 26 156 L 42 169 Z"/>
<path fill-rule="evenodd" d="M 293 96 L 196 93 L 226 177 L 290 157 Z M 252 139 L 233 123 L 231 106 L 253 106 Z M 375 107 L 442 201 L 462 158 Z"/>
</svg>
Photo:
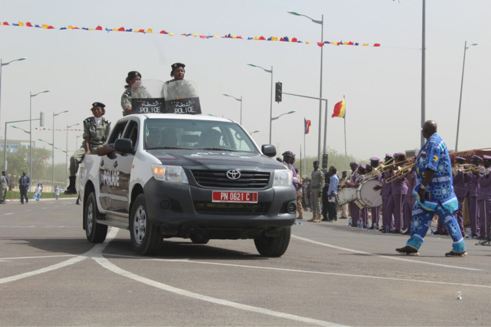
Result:
<svg viewBox="0 0 491 327">
<path fill-rule="evenodd" d="M 489 223 L 491 223 L 491 176 L 489 176 L 489 167 L 491 166 L 491 156 L 483 155 L 484 167 L 481 168 L 482 174 L 479 178 L 480 194 L 479 199 L 479 240 L 487 240 L 489 238 Z"/>
</svg>

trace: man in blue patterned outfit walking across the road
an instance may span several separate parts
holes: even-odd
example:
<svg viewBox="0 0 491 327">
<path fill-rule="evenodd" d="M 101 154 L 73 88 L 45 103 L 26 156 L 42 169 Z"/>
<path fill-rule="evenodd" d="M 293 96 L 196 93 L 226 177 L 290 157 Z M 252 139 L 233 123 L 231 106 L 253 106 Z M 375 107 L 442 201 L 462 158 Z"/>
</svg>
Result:
<svg viewBox="0 0 491 327">
<path fill-rule="evenodd" d="M 464 256 L 467 254 L 464 238 L 457 219 L 452 214 L 459 207 L 452 186 L 452 164 L 447 145 L 436 133 L 434 121 L 423 124 L 422 134 L 426 143 L 416 158 L 416 187 L 414 196 L 411 238 L 403 248 L 396 249 L 401 254 L 418 255 L 434 215 L 443 221 L 453 240 L 452 250 L 445 256 Z"/>
</svg>

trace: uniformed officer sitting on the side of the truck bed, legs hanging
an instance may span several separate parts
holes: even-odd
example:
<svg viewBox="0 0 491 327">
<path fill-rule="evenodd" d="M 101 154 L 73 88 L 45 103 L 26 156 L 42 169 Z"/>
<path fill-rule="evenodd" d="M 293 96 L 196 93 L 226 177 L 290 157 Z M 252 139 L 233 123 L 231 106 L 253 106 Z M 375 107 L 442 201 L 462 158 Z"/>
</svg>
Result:
<svg viewBox="0 0 491 327">
<path fill-rule="evenodd" d="M 77 179 L 78 166 L 86 154 L 95 154 L 97 148 L 102 146 L 109 138 L 111 123 L 102 116 L 106 112 L 105 105 L 101 102 L 92 104 L 94 116 L 83 121 L 83 144 L 70 158 L 70 185 L 64 194 L 77 194 L 75 181 Z"/>
</svg>

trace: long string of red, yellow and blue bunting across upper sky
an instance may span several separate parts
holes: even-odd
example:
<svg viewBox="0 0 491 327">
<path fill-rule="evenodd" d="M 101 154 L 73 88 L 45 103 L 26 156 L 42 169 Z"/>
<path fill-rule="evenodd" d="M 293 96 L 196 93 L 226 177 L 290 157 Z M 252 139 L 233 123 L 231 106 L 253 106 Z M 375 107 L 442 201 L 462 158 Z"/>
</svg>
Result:
<svg viewBox="0 0 491 327">
<path fill-rule="evenodd" d="M 96 28 L 87 28 L 87 27 L 75 27 L 75 26 L 68 26 L 68 27 L 54 27 L 52 25 L 47 25 L 47 24 L 32 24 L 31 22 L 13 22 L 9 23 L 7 21 L 0 21 L 1 26 L 18 26 L 18 27 L 32 27 L 32 28 L 40 28 L 40 29 L 46 29 L 46 30 L 82 30 L 82 31 L 105 31 L 107 33 L 109 32 L 132 32 L 132 33 L 153 33 L 152 29 L 126 29 L 124 27 L 120 28 L 102 28 L 102 26 L 97 26 Z M 166 30 L 162 30 L 160 32 L 155 32 L 153 34 L 165 34 L 168 36 L 173 36 L 176 35 L 175 33 L 168 32 Z M 354 45 L 354 46 L 380 46 L 380 43 L 360 43 L 360 42 L 353 42 L 353 41 L 324 41 L 324 42 L 309 42 L 309 41 L 300 41 L 296 37 L 289 38 L 288 36 L 283 36 L 283 37 L 277 37 L 277 36 L 270 36 L 270 37 L 264 37 L 264 36 L 254 36 L 254 37 L 242 37 L 240 35 L 232 35 L 232 34 L 226 34 L 225 36 L 217 36 L 217 35 L 202 35 L 202 34 L 193 34 L 193 33 L 182 33 L 182 34 L 177 34 L 181 36 L 192 36 L 192 37 L 198 37 L 201 39 L 210 39 L 210 38 L 228 38 L 228 39 L 239 39 L 239 40 L 256 40 L 256 41 L 279 41 L 279 42 L 291 42 L 291 43 L 303 43 L 303 44 L 314 44 L 316 43 L 318 46 L 324 46 L 326 44 L 330 45 Z"/>
</svg>

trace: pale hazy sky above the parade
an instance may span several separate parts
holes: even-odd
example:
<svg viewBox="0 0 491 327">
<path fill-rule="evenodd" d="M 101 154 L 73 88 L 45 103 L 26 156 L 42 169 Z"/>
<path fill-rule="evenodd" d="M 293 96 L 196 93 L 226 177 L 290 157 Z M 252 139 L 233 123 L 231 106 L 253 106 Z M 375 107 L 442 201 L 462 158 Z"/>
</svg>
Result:
<svg viewBox="0 0 491 327">
<path fill-rule="evenodd" d="M 421 1 L 22 1 L 3 0 L 0 20 L 30 21 L 57 28 L 77 27 L 153 29 L 153 34 L 59 31 L 0 26 L 3 68 L 0 133 L 5 121 L 29 119 L 29 92 L 51 89 L 33 98 L 33 116 L 46 112 L 55 128 L 81 123 L 91 115 L 95 101 L 106 104 L 105 117 L 121 118 L 120 97 L 128 71 L 143 79 L 170 79 L 170 65 L 186 64 L 186 79 L 197 83 L 204 113 L 239 121 L 240 103 L 222 96 L 243 97 L 243 126 L 256 142 L 268 143 L 271 75 L 283 91 L 319 96 L 320 48 L 297 44 L 238 39 L 200 39 L 182 33 L 228 33 L 248 36 L 288 36 L 320 41 L 324 14 L 324 40 L 380 43 L 365 46 L 324 46 L 323 96 L 329 99 L 327 144 L 344 153 L 343 120 L 331 119 L 334 103 L 346 96 L 348 153 L 367 159 L 419 147 L 421 107 Z M 466 54 L 459 149 L 489 147 L 489 79 L 491 73 L 491 2 L 486 0 L 427 0 L 426 108 L 450 149 L 455 148 L 464 41 L 479 42 Z M 157 34 L 161 30 L 174 36 Z M 155 33 L 157 32 L 157 33 Z M 319 103 L 283 96 L 273 104 L 273 116 L 297 113 L 273 122 L 273 144 L 279 151 L 299 153 L 303 146 L 303 118 L 312 121 L 306 136 L 307 154 L 317 154 Z M 324 113 L 323 113 L 324 114 Z M 324 118 L 322 119 L 322 125 Z M 28 123 L 18 124 L 29 128 Z M 38 127 L 33 124 L 33 128 Z M 69 150 L 75 149 L 70 132 Z M 65 132 L 55 132 L 55 146 L 65 148 Z M 8 138 L 28 134 L 8 128 Z M 51 132 L 33 131 L 33 139 L 51 142 Z M 40 143 L 37 143 L 41 146 Z M 81 138 L 79 138 L 79 147 Z M 48 147 L 48 146 L 47 146 Z M 56 161 L 64 154 L 56 152 Z"/>
</svg>

